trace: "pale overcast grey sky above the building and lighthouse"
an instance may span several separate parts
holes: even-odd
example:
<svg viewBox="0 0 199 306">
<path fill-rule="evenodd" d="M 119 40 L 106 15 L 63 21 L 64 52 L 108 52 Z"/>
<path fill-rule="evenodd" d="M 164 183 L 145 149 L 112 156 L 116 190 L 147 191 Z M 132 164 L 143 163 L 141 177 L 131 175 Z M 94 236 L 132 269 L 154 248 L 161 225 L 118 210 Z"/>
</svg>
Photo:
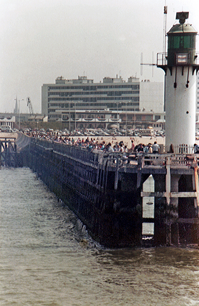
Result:
<svg viewBox="0 0 199 306">
<path fill-rule="evenodd" d="M 116 75 L 127 81 L 162 82 L 163 71 L 143 66 L 163 51 L 165 0 L 0 0 L 0 112 L 12 112 L 15 98 L 28 112 L 30 97 L 41 112 L 41 86 L 61 75 L 94 82 Z M 199 31 L 198 0 L 166 0 L 167 31 L 176 12 L 189 11 Z M 199 39 L 197 38 L 199 41 Z M 199 43 L 197 41 L 197 51 Z"/>
</svg>

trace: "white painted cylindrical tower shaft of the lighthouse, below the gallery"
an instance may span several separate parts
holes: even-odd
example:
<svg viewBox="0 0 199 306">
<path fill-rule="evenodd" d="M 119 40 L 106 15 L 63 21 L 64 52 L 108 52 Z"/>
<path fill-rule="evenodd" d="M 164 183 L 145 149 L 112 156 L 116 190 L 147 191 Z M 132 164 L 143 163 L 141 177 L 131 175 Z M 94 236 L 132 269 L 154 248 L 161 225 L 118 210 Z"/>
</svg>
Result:
<svg viewBox="0 0 199 306">
<path fill-rule="evenodd" d="M 177 69 L 177 73 L 176 73 Z M 182 75 L 183 73 L 183 75 Z M 188 87 L 187 84 L 188 76 Z M 176 82 L 177 87 L 174 88 Z M 166 124 L 165 144 L 193 145 L 195 142 L 195 105 L 196 75 L 192 75 L 192 66 L 173 67 L 172 75 L 166 73 Z"/>
</svg>

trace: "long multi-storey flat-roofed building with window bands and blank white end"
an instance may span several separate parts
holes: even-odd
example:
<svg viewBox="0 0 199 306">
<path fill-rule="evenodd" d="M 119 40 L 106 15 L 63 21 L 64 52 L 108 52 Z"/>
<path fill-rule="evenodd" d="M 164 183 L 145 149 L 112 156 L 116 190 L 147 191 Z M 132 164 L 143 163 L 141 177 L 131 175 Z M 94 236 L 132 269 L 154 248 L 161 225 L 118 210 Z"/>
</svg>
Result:
<svg viewBox="0 0 199 306">
<path fill-rule="evenodd" d="M 43 84 L 42 114 L 48 115 L 49 122 L 67 121 L 69 117 L 76 122 L 79 119 L 76 116 L 80 116 L 81 111 L 96 112 L 98 117 L 98 112 L 110 112 L 115 121 L 122 113 L 132 117 L 132 121 L 132 113 L 135 112 L 163 113 L 163 83 L 140 82 L 134 77 L 128 78 L 127 82 L 121 77 L 107 77 L 100 83 L 94 83 L 87 77 L 75 80 L 59 77 L 55 84 Z"/>
</svg>

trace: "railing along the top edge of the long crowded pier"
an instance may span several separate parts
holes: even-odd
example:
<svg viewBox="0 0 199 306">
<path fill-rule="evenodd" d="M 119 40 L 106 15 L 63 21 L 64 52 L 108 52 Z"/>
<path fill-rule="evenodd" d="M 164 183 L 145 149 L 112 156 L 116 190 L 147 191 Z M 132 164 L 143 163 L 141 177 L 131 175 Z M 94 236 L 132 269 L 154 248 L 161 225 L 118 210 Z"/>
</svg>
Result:
<svg viewBox="0 0 199 306">
<path fill-rule="evenodd" d="M 53 152 L 67 155 L 72 159 L 77 159 L 83 163 L 89 163 L 95 166 L 97 164 L 106 164 L 108 166 L 139 166 L 144 168 L 165 167 L 169 163 L 175 167 L 194 167 L 197 165 L 197 160 L 199 159 L 199 155 L 197 154 L 183 152 L 183 147 L 179 147 L 182 153 L 149 154 L 144 152 L 104 152 L 102 150 L 89 150 L 86 147 L 67 145 L 37 138 L 32 138 L 31 142 L 33 146 L 38 145 L 44 150 L 52 150 Z M 187 151 L 192 151 L 191 147 Z"/>
</svg>

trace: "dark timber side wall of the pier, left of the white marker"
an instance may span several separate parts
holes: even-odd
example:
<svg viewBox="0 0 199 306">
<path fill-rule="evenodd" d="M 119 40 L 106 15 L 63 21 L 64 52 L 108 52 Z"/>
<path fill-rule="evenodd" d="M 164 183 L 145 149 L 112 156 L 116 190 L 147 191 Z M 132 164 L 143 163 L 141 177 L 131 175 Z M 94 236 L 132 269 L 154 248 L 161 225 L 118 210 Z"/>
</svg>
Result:
<svg viewBox="0 0 199 306">
<path fill-rule="evenodd" d="M 141 198 L 136 173 L 108 168 L 102 152 L 32 139 L 27 165 L 38 174 L 87 226 L 91 236 L 108 247 L 140 246 Z"/>
</svg>

